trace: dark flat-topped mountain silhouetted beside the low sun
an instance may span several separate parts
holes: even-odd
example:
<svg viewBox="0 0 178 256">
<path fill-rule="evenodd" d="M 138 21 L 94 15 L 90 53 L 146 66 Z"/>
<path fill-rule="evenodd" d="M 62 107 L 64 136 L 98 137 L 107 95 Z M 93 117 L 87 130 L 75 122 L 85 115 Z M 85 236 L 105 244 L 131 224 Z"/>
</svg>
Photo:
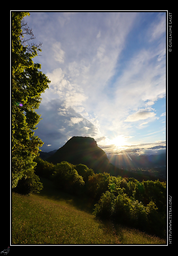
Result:
<svg viewBox="0 0 178 256">
<path fill-rule="evenodd" d="M 115 169 L 110 164 L 103 149 L 99 148 L 96 141 L 90 137 L 72 137 L 63 147 L 48 157 L 46 161 L 53 164 L 61 163 L 62 161 L 67 161 L 71 164 L 85 164 L 97 173 L 113 173 Z"/>
</svg>

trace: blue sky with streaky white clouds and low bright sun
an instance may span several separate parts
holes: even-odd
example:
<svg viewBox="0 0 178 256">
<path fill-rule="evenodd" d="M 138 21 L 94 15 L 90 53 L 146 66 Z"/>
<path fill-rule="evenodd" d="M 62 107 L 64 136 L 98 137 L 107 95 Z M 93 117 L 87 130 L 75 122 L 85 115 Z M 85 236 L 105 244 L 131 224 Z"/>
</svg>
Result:
<svg viewBox="0 0 178 256">
<path fill-rule="evenodd" d="M 35 131 L 49 152 L 73 136 L 107 154 L 166 145 L 166 12 L 39 12 L 25 18 L 51 83 Z"/>
</svg>

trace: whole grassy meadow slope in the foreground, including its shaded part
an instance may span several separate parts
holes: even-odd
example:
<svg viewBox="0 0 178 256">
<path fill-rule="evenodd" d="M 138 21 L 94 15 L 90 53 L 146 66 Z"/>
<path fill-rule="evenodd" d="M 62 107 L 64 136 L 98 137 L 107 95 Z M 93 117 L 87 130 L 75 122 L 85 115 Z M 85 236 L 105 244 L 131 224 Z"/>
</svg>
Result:
<svg viewBox="0 0 178 256">
<path fill-rule="evenodd" d="M 166 244 L 138 230 L 98 221 L 90 212 L 93 202 L 83 203 L 57 192 L 48 180 L 42 182 L 40 195 L 12 193 L 12 244 Z"/>
</svg>

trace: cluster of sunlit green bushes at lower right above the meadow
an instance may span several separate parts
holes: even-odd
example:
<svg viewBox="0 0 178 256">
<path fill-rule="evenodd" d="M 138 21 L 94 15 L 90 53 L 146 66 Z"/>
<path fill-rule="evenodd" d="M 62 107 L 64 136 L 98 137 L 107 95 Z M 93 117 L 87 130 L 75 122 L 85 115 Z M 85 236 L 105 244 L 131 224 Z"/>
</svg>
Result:
<svg viewBox="0 0 178 256">
<path fill-rule="evenodd" d="M 166 230 L 166 183 L 110 176 L 94 214 L 159 236 Z"/>
</svg>

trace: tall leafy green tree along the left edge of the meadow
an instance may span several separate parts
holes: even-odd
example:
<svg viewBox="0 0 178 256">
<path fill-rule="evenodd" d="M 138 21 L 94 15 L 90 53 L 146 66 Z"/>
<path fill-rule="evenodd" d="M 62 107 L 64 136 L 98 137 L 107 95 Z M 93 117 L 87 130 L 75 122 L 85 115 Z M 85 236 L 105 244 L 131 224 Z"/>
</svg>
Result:
<svg viewBox="0 0 178 256">
<path fill-rule="evenodd" d="M 34 177 L 36 163 L 33 159 L 39 155 L 39 147 L 43 145 L 33 131 L 41 119 L 36 109 L 41 102 L 41 93 L 50 83 L 47 76 L 39 71 L 41 65 L 32 60 L 41 51 L 41 43 L 31 43 L 34 36 L 25 23 L 27 15 L 30 13 L 12 12 L 11 22 L 12 188 L 17 187 L 20 180 Z M 29 186 L 35 187 L 39 181 L 36 178 L 36 182 L 31 183 Z"/>
</svg>

